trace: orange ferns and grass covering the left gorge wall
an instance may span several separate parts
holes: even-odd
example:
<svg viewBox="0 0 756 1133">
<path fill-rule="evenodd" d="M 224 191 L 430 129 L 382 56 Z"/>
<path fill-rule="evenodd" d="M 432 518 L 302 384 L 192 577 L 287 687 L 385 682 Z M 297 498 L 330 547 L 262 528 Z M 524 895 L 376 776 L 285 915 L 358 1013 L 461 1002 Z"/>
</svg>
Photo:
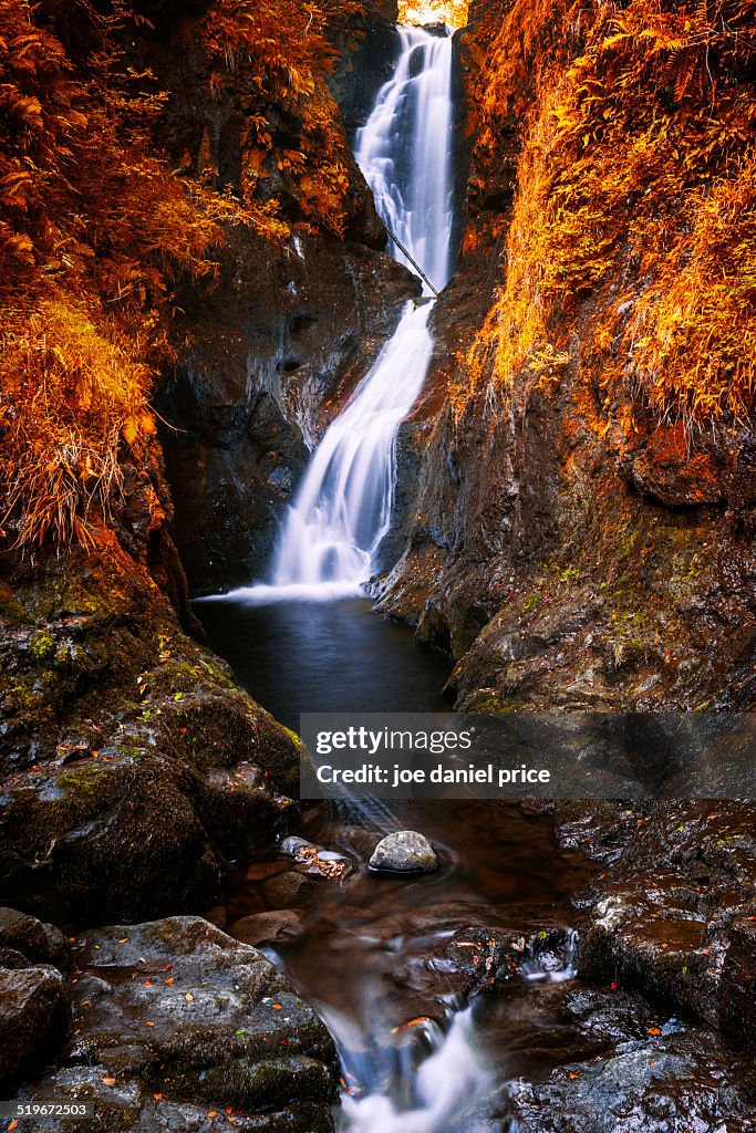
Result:
<svg viewBox="0 0 756 1133">
<path fill-rule="evenodd" d="M 305 223 L 343 228 L 328 27 L 358 24 L 362 3 L 209 0 L 211 88 L 239 79 L 247 99 L 236 195 L 215 190 L 202 153 L 198 178 L 158 154 L 168 95 L 120 46 L 127 26 L 148 35 L 148 22 L 120 0 L 102 9 L 0 0 L 0 527 L 20 545 L 86 539 L 91 518 L 122 503 L 125 461 L 147 479 L 148 399 L 171 357 L 177 282 L 212 283 L 223 223 L 288 235 L 263 184 L 273 171 L 298 189 Z M 286 117 L 286 147 L 272 111 Z"/>
</svg>

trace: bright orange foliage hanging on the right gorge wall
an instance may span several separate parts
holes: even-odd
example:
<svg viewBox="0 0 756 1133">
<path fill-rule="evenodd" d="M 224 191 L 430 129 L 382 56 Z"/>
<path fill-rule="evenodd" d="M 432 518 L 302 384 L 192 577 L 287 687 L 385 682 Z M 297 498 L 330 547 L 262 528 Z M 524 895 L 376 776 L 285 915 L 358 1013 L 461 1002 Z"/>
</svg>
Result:
<svg viewBox="0 0 756 1133">
<path fill-rule="evenodd" d="M 498 385 L 554 376 L 579 320 L 608 390 L 688 423 L 753 411 L 755 61 L 755 0 L 516 0 L 478 145 L 519 123 L 517 195 L 466 393 L 492 350 Z"/>
</svg>

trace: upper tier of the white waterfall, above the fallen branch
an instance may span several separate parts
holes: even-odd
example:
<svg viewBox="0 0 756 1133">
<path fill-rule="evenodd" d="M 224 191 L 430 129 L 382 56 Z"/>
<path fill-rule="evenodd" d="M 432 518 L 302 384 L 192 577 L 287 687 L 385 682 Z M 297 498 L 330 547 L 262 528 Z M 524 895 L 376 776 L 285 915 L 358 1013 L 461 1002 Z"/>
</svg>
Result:
<svg viewBox="0 0 756 1133">
<path fill-rule="evenodd" d="M 357 134 L 356 159 L 390 233 L 404 244 L 436 291 L 449 280 L 452 182 L 451 37 L 400 27 L 392 79 Z M 394 258 L 414 270 L 392 240 Z"/>
</svg>

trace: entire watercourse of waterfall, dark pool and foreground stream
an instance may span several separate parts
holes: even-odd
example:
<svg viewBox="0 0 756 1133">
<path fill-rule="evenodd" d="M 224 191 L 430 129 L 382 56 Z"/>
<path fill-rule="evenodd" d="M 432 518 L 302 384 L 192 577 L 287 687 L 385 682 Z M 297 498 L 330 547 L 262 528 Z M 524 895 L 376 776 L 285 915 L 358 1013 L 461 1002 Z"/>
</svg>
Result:
<svg viewBox="0 0 756 1133">
<path fill-rule="evenodd" d="M 421 271 L 425 296 L 407 305 L 313 452 L 265 581 L 197 606 L 237 678 L 295 729 L 300 712 L 442 707 L 445 659 L 413 648 L 409 631 L 381 623 L 363 597 L 391 526 L 397 429 L 433 351 L 432 295 L 450 274 L 452 50 L 440 31 L 399 29 L 394 74 L 356 143 L 392 253 Z M 398 829 L 431 841 L 434 872 L 369 869 L 376 843 Z M 560 847 L 546 809 L 345 799 L 313 806 L 267 860 L 239 862 L 214 915 L 262 947 L 326 1023 L 342 1133 L 515 1133 L 534 1111 L 525 1081 L 555 1072 L 558 1090 L 581 1079 L 576 1058 L 621 1059 L 630 1048 L 638 1067 L 654 1065 L 643 1046 L 661 1033 L 651 1008 L 615 999 L 613 973 L 601 989 L 577 980 L 571 898 L 595 872 Z M 685 1054 L 683 1024 L 664 1025 Z M 614 1104 L 613 1081 L 586 1089 L 592 1108 Z M 555 1094 L 528 1130 L 551 1133 L 559 1104 Z M 628 1133 L 657 1127 L 652 1117 Z"/>
</svg>

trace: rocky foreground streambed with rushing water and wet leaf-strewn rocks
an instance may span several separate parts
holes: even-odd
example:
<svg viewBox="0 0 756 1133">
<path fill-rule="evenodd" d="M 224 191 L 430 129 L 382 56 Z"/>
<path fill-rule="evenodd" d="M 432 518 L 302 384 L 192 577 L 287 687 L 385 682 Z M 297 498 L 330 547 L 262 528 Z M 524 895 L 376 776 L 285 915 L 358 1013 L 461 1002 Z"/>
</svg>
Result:
<svg viewBox="0 0 756 1133">
<path fill-rule="evenodd" d="M 371 870 L 410 820 L 436 868 Z M 70 1127 L 108 1133 L 756 1127 L 745 807 L 328 804 L 297 827 L 204 917 L 63 934 L 3 910 L 5 1096 L 92 1100 Z"/>
</svg>

